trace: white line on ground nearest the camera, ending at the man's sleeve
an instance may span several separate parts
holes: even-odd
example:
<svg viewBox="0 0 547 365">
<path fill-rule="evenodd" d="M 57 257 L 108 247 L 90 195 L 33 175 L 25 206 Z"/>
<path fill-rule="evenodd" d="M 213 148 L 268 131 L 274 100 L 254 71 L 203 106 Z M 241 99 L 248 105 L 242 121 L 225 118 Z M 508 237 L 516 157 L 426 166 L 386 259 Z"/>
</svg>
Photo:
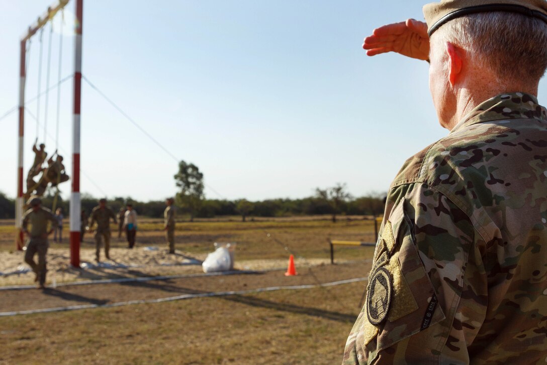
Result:
<svg viewBox="0 0 547 365">
<path fill-rule="evenodd" d="M 294 285 L 294 286 L 284 286 L 284 287 L 267 287 L 267 288 L 258 288 L 258 289 L 248 289 L 248 290 L 235 290 L 230 292 L 182 294 L 182 295 L 170 296 L 168 298 L 129 300 L 129 301 L 121 301 L 118 303 L 110 303 L 110 304 L 84 304 L 84 305 L 71 305 L 66 307 L 35 309 L 35 310 L 28 310 L 28 311 L 0 312 L 0 317 L 36 314 L 36 313 L 64 312 L 64 311 L 72 311 L 72 310 L 78 310 L 78 309 L 112 308 L 112 307 L 120 307 L 125 305 L 132 305 L 132 304 L 154 304 L 154 303 L 163 303 L 166 301 L 183 300 L 183 299 L 211 298 L 214 296 L 245 295 L 245 294 L 254 294 L 254 293 L 273 292 L 275 290 L 301 290 L 301 289 L 313 289 L 318 287 L 321 287 L 321 288 L 334 287 L 337 285 L 351 284 L 351 283 L 361 282 L 366 280 L 368 280 L 368 278 L 360 277 L 360 278 L 334 281 L 330 283 L 321 283 L 321 284 Z"/>
</svg>

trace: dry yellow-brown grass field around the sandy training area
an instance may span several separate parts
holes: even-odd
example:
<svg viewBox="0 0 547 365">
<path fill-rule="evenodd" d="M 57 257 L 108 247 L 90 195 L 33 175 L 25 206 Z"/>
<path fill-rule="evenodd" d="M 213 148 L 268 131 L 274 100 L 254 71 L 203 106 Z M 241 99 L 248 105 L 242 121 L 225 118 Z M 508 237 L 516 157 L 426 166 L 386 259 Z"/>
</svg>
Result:
<svg viewBox="0 0 547 365">
<path fill-rule="evenodd" d="M 298 290 L 252 290 L 366 277 L 373 248 L 337 247 L 338 264 L 330 265 L 327 239 L 374 242 L 373 221 L 344 217 L 333 224 L 328 219 L 313 217 L 242 223 L 236 219 L 178 223 L 177 249 L 186 257 L 199 259 L 213 250 L 213 242 L 235 242 L 236 269 L 240 268 L 237 263 L 246 263 L 257 270 L 252 274 L 59 286 L 43 292 L 0 290 L 0 312 L 63 305 L 98 306 L 0 317 L 0 363 L 340 363 L 347 334 L 360 310 L 358 303 L 366 281 Z M 163 248 L 160 227 L 155 220 L 141 221 L 137 249 Z M 13 233 L 11 225 L 0 224 L 0 254 L 21 255 L 13 250 Z M 85 238 L 83 255 L 92 252 L 91 241 L 91 237 Z M 113 241 L 119 255 L 123 255 L 125 243 Z M 67 243 L 51 245 L 59 252 L 67 246 Z M 280 265 L 286 269 L 289 253 L 297 258 L 298 276 L 286 277 L 283 269 L 260 270 Z M 191 266 L 189 272 L 199 273 L 200 269 Z M 176 265 L 149 265 L 147 270 L 105 271 L 94 273 L 91 278 L 177 275 L 181 273 L 178 270 Z M 89 278 L 85 271 L 80 270 L 82 277 Z M 7 278 L 0 277 L 0 286 L 7 284 Z M 131 300 L 228 290 L 247 292 L 109 306 Z"/>
</svg>

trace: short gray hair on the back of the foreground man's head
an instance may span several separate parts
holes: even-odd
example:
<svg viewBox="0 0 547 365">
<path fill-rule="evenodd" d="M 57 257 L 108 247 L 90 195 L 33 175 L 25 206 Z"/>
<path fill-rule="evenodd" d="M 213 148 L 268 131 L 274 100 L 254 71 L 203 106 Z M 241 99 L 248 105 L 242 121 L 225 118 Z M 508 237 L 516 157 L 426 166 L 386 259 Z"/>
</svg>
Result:
<svg viewBox="0 0 547 365">
<path fill-rule="evenodd" d="M 537 83 L 547 69 L 547 24 L 521 14 L 462 16 L 433 33 L 432 42 L 462 47 L 476 66 L 491 69 L 502 83 Z"/>
</svg>

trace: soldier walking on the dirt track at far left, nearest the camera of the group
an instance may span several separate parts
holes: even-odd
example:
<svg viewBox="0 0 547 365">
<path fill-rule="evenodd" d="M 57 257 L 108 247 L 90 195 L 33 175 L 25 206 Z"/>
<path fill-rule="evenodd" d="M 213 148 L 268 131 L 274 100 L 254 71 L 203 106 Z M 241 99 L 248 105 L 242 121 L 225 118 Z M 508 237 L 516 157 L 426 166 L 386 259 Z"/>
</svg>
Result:
<svg viewBox="0 0 547 365">
<path fill-rule="evenodd" d="M 30 201 L 31 209 L 28 209 L 23 216 L 22 230 L 27 235 L 28 241 L 25 251 L 25 262 L 36 274 L 35 282 L 38 288 L 43 289 L 46 273 L 46 254 L 48 253 L 48 236 L 53 232 L 57 220 L 49 209 L 42 208 L 40 198 L 33 198 Z M 51 228 L 48 230 L 48 220 Z M 31 230 L 28 230 L 28 223 Z M 38 264 L 34 262 L 34 254 L 38 253 Z"/>
</svg>

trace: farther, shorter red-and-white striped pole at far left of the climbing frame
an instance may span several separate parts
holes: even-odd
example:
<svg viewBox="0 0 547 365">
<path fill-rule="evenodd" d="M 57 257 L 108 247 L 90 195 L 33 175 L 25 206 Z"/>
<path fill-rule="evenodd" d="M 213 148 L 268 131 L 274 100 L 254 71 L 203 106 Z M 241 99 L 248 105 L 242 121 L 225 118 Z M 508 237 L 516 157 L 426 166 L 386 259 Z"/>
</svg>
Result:
<svg viewBox="0 0 547 365">
<path fill-rule="evenodd" d="M 19 151 L 17 157 L 17 199 L 15 199 L 15 227 L 16 227 L 16 247 L 23 249 L 23 232 L 21 231 L 21 218 L 23 216 L 23 136 L 25 134 L 25 62 L 26 62 L 26 44 L 21 41 L 21 60 L 19 66 Z"/>
</svg>

